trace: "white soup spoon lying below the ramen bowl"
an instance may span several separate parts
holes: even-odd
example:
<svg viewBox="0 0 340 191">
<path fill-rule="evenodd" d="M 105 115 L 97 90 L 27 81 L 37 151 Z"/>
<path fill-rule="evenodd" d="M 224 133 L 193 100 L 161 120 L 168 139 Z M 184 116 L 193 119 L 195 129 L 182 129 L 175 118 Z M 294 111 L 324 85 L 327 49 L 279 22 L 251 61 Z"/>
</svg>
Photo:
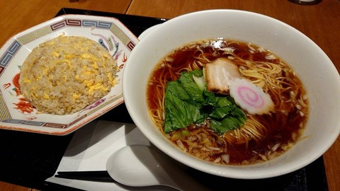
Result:
<svg viewBox="0 0 340 191">
<path fill-rule="evenodd" d="M 149 146 L 125 146 L 106 163 L 113 180 L 132 187 L 166 185 L 178 190 L 208 190 L 180 168 L 171 158 Z"/>
</svg>

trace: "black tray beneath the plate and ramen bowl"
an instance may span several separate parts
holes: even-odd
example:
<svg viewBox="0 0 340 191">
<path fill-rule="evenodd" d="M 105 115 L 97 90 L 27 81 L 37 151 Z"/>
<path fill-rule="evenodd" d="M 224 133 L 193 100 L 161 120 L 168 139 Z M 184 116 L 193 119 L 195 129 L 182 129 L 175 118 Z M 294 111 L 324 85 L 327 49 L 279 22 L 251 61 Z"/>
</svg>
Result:
<svg viewBox="0 0 340 191">
<path fill-rule="evenodd" d="M 62 8 L 56 16 L 63 14 L 84 14 L 118 18 L 136 36 L 144 30 L 166 21 L 164 18 L 130 16 L 120 13 Z M 132 123 L 125 104 L 98 117 L 98 120 Z M 0 130 L 0 180 L 33 187 L 38 190 L 77 190 L 54 183 L 45 182 L 54 175 L 60 160 L 67 149 L 73 133 L 64 137 L 29 132 Z M 324 171 L 324 161 L 320 157 L 310 165 L 287 175 L 260 180 L 238 180 L 189 169 L 193 177 L 205 183 L 212 190 L 275 190 L 310 191 L 328 190 Z"/>
</svg>

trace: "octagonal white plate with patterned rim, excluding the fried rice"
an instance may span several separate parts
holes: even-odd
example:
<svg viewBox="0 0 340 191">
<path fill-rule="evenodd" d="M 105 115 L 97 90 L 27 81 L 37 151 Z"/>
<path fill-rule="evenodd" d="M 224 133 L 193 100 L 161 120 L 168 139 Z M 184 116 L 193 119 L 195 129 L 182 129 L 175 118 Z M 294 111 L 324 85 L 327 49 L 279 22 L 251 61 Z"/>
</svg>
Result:
<svg viewBox="0 0 340 191">
<path fill-rule="evenodd" d="M 73 115 L 38 114 L 18 91 L 20 66 L 34 47 L 58 35 L 88 37 L 106 47 L 118 59 L 118 84 L 107 96 Z M 138 39 L 116 18 L 64 15 L 11 37 L 0 50 L 0 129 L 65 135 L 123 103 L 124 64 Z"/>
</svg>

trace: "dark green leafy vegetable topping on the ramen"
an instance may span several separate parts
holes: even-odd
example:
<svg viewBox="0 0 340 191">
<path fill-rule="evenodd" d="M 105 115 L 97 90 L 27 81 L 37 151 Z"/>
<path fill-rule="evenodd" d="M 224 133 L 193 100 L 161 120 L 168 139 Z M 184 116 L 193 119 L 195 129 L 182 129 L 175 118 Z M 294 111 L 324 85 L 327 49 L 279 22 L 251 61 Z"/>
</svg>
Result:
<svg viewBox="0 0 340 191">
<path fill-rule="evenodd" d="M 246 114 L 230 96 L 208 92 L 196 83 L 202 77 L 203 71 L 197 69 L 183 72 L 178 80 L 166 84 L 165 133 L 208 120 L 210 128 L 222 134 L 246 122 Z"/>
</svg>

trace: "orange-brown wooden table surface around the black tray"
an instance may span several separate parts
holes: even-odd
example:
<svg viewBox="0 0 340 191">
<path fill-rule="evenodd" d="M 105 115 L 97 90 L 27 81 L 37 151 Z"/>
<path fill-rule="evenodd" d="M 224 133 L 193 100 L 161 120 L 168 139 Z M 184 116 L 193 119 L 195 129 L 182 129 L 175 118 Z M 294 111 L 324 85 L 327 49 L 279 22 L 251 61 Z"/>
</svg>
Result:
<svg viewBox="0 0 340 191">
<path fill-rule="evenodd" d="M 288 23 L 310 37 L 340 71 L 339 0 L 323 0 L 313 6 L 293 4 L 288 0 L 0 0 L 0 46 L 16 33 L 53 18 L 60 8 L 81 8 L 157 18 L 174 18 L 184 13 L 214 8 L 262 13 Z M 329 190 L 340 190 L 340 137 L 324 154 L 324 166 Z M 8 188 L 8 184 L 2 185 Z M 16 187 L 9 185 L 11 186 L 12 189 Z M 16 188 L 21 190 L 22 187 Z"/>
</svg>

